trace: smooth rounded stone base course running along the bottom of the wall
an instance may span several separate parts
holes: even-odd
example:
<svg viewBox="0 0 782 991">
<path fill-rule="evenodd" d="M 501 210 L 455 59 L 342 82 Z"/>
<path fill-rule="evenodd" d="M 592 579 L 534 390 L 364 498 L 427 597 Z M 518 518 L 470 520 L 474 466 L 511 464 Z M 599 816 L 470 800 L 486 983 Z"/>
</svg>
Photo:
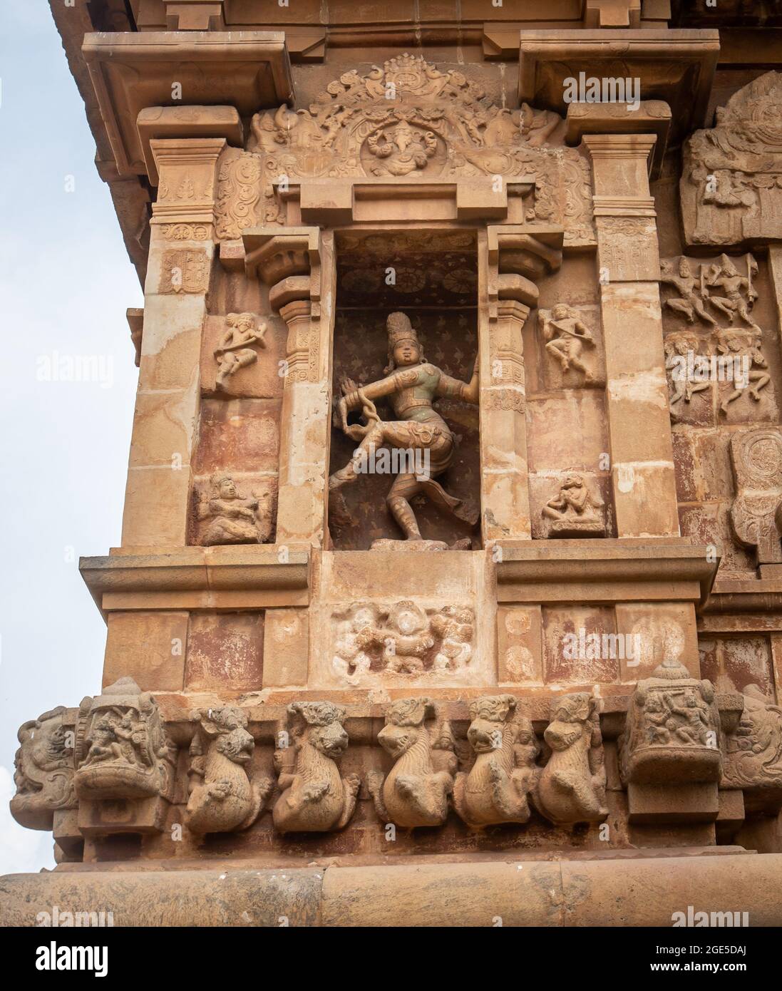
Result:
<svg viewBox="0 0 782 991">
<path fill-rule="evenodd" d="M 782 854 L 146 869 L 101 865 L 0 878 L 0 925 L 112 912 L 115 927 L 671 927 L 674 913 L 782 926 Z M 214 861 L 212 861 L 214 863 Z M 109 869 L 107 869 L 109 868 Z M 714 924 L 713 924 L 714 925 Z"/>
</svg>

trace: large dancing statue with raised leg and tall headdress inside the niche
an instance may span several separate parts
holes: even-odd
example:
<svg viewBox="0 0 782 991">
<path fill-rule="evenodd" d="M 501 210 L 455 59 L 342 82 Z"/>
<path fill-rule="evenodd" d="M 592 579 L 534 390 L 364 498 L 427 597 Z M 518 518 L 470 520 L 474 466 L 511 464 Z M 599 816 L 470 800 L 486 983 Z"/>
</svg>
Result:
<svg viewBox="0 0 782 991">
<path fill-rule="evenodd" d="M 379 448 L 388 445 L 402 451 L 420 451 L 427 465 L 426 472 L 403 472 L 398 475 L 386 497 L 389 511 L 405 539 L 418 541 L 422 539 L 421 532 L 410 505 L 410 499 L 418 493 L 427 495 L 442 511 L 471 525 L 478 521 L 475 507 L 468 507 L 462 500 L 448 495 L 435 482 L 435 478 L 442 475 L 453 460 L 454 437 L 448 424 L 432 407 L 438 397 L 463 399 L 477 405 L 478 366 L 476 364 L 469 383 L 452 379 L 426 362 L 418 337 L 404 313 L 391 313 L 387 324 L 389 365 L 386 378 L 361 387 L 351 380 L 342 383 L 343 395 L 338 404 L 340 426 L 349 437 L 360 443 L 345 468 L 334 472 L 329 479 L 329 508 L 336 521 L 348 517 L 345 500 L 339 490 L 356 481 L 362 465 L 374 458 Z M 395 420 L 383 421 L 378 416 L 373 400 L 385 396 L 391 400 Z M 348 413 L 355 409 L 363 410 L 367 420 L 365 425 L 348 424 Z M 388 543 L 384 541 L 384 544 Z"/>
</svg>

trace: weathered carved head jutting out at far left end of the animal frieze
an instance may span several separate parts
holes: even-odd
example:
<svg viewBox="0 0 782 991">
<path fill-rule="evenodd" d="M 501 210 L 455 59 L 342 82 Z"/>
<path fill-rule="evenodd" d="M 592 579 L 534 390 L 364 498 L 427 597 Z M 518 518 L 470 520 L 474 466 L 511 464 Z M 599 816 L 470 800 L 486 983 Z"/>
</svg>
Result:
<svg viewBox="0 0 782 991">
<path fill-rule="evenodd" d="M 19 727 L 21 746 L 14 760 L 16 795 L 11 799 L 11 815 L 28 829 L 52 829 L 56 810 L 76 805 L 74 733 L 65 728 L 66 712 L 58 706 Z"/>
</svg>

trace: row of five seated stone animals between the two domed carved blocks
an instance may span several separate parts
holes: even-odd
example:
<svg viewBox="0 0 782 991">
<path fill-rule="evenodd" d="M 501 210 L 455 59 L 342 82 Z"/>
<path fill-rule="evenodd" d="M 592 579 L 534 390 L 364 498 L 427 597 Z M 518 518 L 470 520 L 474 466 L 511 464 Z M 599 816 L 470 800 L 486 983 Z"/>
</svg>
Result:
<svg viewBox="0 0 782 991">
<path fill-rule="evenodd" d="M 193 714 L 191 787 L 185 825 L 195 833 L 251 826 L 274 790 L 271 778 L 251 780 L 253 750 L 246 716 L 231 707 Z M 348 746 L 345 711 L 329 702 L 295 702 L 275 751 L 279 798 L 272 810 L 279 832 L 323 832 L 347 826 L 361 780 L 342 776 L 337 760 Z M 526 823 L 530 803 L 555 825 L 600 822 L 608 815 L 606 772 L 596 700 L 586 693 L 553 706 L 540 747 L 530 720 L 516 713 L 512 695 L 486 696 L 470 707 L 467 739 L 475 752 L 469 771 L 457 772 L 456 742 L 428 698 L 391 704 L 378 742 L 393 764 L 371 771 L 367 788 L 380 819 L 402 828 L 441 826 L 451 805 L 473 828 Z"/>
</svg>

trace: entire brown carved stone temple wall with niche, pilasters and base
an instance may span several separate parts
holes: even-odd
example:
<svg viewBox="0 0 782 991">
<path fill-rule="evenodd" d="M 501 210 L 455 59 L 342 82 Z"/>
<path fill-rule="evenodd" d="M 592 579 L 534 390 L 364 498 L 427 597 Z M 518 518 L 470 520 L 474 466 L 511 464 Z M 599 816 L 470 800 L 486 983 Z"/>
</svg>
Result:
<svg viewBox="0 0 782 991">
<path fill-rule="evenodd" d="M 7 919 L 780 925 L 782 13 L 390 6 L 52 0 L 145 305 Z"/>
</svg>

